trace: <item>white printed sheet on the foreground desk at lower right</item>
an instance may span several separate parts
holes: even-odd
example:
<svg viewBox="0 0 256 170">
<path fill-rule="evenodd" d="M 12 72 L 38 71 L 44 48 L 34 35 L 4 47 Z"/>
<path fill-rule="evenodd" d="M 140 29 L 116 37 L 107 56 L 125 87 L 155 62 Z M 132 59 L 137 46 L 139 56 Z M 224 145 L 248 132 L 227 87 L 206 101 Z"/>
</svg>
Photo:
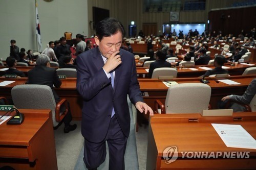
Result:
<svg viewBox="0 0 256 170">
<path fill-rule="evenodd" d="M 227 147 L 256 149 L 256 140 L 241 125 L 211 125 Z"/>
</svg>

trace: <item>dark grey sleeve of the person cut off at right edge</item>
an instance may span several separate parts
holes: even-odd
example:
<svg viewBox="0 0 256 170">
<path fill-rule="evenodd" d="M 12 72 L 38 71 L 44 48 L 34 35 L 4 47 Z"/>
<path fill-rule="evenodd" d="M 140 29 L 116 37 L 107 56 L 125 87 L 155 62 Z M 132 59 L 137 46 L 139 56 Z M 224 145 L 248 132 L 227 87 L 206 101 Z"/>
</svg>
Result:
<svg viewBox="0 0 256 170">
<path fill-rule="evenodd" d="M 256 93 L 256 79 L 253 79 L 243 95 L 232 95 L 231 100 L 243 104 L 249 104 Z"/>
</svg>

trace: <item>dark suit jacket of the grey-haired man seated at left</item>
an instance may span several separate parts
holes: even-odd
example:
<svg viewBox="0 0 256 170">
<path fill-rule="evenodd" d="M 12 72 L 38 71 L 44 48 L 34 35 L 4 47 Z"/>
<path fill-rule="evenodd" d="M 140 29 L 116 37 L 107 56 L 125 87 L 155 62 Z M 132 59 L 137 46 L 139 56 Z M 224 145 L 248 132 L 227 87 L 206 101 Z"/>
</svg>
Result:
<svg viewBox="0 0 256 170">
<path fill-rule="evenodd" d="M 60 101 L 59 96 L 54 91 L 54 87 L 60 87 L 61 81 L 57 75 L 55 68 L 47 66 L 37 65 L 33 69 L 28 71 L 28 84 L 42 84 L 50 86 L 54 95 L 55 102 Z"/>
</svg>

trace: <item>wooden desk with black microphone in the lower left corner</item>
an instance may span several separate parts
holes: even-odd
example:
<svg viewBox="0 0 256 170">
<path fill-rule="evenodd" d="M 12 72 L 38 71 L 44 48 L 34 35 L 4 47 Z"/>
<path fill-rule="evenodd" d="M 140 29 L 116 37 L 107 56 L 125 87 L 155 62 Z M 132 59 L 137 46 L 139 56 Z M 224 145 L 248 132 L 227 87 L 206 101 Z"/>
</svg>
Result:
<svg viewBox="0 0 256 170">
<path fill-rule="evenodd" d="M 21 125 L 0 125 L 0 167 L 57 169 L 51 111 L 19 111 L 25 115 Z"/>
</svg>

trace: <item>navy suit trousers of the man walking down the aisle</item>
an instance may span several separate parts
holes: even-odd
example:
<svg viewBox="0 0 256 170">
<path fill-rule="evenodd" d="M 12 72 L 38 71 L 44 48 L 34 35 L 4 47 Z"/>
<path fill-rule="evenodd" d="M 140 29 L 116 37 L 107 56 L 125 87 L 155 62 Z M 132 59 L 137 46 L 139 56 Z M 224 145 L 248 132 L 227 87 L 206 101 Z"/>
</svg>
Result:
<svg viewBox="0 0 256 170">
<path fill-rule="evenodd" d="M 97 134 L 95 134 L 97 135 Z M 126 149 L 127 137 L 122 132 L 116 115 L 111 118 L 108 132 L 105 139 L 100 143 L 94 143 L 84 139 L 83 161 L 88 169 L 99 167 L 105 161 L 106 141 L 109 147 L 109 169 L 124 170 L 124 153 Z"/>
</svg>

